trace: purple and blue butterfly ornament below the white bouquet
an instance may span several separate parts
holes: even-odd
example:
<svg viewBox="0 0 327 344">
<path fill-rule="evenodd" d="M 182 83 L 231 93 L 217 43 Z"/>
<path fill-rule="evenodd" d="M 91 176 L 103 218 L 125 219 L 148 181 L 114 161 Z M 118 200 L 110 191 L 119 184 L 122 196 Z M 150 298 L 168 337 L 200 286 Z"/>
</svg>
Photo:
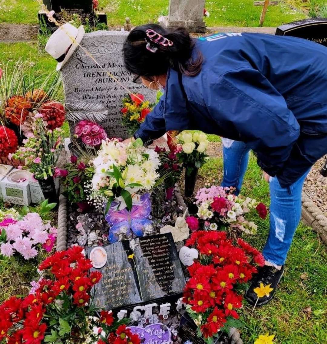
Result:
<svg viewBox="0 0 327 344">
<path fill-rule="evenodd" d="M 131 230 L 137 237 L 141 237 L 144 232 L 148 232 L 149 226 L 152 227 L 152 221 L 148 218 L 151 212 L 149 193 L 143 194 L 138 204 L 133 204 L 131 211 L 128 211 L 127 208 L 116 210 L 117 205 L 116 202 L 113 202 L 105 215 L 105 219 L 110 225 L 108 235 L 110 243 L 130 237 Z"/>
</svg>

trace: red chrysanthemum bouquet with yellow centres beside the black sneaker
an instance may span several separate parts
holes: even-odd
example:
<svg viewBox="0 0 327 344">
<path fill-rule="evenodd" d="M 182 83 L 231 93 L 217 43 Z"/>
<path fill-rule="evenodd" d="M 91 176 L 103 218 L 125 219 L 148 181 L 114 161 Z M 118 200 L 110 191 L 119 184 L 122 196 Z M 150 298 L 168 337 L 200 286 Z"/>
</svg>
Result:
<svg viewBox="0 0 327 344">
<path fill-rule="evenodd" d="M 264 258 L 242 239 L 227 239 L 226 232 L 199 231 L 191 234 L 187 246 L 199 250 L 199 258 L 188 268 L 185 286 L 187 311 L 198 325 L 198 334 L 207 343 L 225 327 L 235 326 L 242 307 L 240 284 L 249 281 Z"/>
</svg>

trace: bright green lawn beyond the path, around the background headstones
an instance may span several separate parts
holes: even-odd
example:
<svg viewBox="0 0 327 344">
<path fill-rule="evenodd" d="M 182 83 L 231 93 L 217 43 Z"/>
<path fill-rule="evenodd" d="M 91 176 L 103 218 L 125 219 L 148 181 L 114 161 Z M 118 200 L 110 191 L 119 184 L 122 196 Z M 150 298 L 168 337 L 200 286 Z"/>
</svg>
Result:
<svg viewBox="0 0 327 344">
<path fill-rule="evenodd" d="M 326 2 L 326 0 L 318 0 Z M 316 0 L 317 2 L 317 0 Z M 108 14 L 109 26 L 122 26 L 125 17 L 131 18 L 133 25 L 156 22 L 160 15 L 168 14 L 169 0 L 100 0 L 100 8 Z M 292 10 L 287 4 L 297 7 Z M 286 0 L 279 6 L 270 6 L 264 26 L 278 26 L 287 22 L 306 18 L 302 2 Z M 0 23 L 36 24 L 40 6 L 36 0 L 0 1 Z M 258 26 L 261 6 L 253 6 L 253 0 L 208 0 L 206 9 L 210 17 L 205 18 L 207 26 Z"/>
</svg>

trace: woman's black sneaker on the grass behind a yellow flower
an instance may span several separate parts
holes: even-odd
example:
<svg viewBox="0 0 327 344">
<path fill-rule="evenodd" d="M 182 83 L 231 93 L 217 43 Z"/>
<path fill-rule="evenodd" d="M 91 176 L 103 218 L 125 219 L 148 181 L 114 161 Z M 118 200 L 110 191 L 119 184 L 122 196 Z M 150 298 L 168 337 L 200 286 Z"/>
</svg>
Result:
<svg viewBox="0 0 327 344">
<path fill-rule="evenodd" d="M 265 295 L 263 298 L 260 298 L 257 302 L 256 306 L 262 306 L 263 304 L 268 303 L 272 299 L 274 292 L 278 286 L 278 283 L 284 274 L 284 266 L 282 266 L 280 270 L 277 270 L 273 266 L 265 265 L 262 268 L 259 268 L 258 270 L 258 273 L 255 276 L 253 276 L 251 280 L 250 288 L 245 293 L 245 299 L 252 306 L 254 306 L 258 300 L 258 296 L 253 291 L 253 289 L 260 287 L 260 283 L 263 283 L 264 286 L 267 286 L 267 284 L 271 284 L 270 288 L 273 288 L 273 291 L 269 293 L 269 297 Z"/>
</svg>

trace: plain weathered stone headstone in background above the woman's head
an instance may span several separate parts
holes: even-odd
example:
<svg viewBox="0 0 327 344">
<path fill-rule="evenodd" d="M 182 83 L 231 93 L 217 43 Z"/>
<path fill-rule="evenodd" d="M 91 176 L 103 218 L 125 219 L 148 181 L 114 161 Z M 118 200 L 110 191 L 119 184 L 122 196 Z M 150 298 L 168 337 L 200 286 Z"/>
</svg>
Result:
<svg viewBox="0 0 327 344">
<path fill-rule="evenodd" d="M 159 19 L 166 28 L 184 26 L 192 32 L 206 32 L 203 21 L 205 0 L 169 0 L 168 16 Z"/>
</svg>

